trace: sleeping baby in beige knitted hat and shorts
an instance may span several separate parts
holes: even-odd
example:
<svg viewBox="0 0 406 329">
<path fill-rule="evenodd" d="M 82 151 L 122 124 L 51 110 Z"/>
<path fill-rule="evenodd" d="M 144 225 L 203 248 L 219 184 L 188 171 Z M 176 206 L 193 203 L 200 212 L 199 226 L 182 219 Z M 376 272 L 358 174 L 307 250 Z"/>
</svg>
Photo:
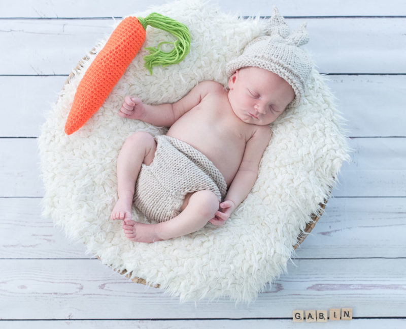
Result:
<svg viewBox="0 0 406 329">
<path fill-rule="evenodd" d="M 227 64 L 228 88 L 203 81 L 173 104 L 126 96 L 124 118 L 170 127 L 129 136 L 117 160 L 118 201 L 111 218 L 127 238 L 156 242 L 208 222 L 222 225 L 247 197 L 272 136 L 269 124 L 299 104 L 312 69 L 304 25 L 290 34 L 274 9 L 265 36 Z M 131 219 L 132 203 L 151 221 Z"/>
</svg>

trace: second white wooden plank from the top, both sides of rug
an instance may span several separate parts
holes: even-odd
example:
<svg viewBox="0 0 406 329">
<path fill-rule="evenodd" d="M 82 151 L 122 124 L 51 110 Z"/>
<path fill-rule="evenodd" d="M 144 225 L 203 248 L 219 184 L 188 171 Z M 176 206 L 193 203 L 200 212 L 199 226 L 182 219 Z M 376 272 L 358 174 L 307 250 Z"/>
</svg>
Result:
<svg viewBox="0 0 406 329">
<path fill-rule="evenodd" d="M 306 48 L 320 72 L 406 73 L 406 18 L 306 18 L 289 24 L 297 28 L 305 21 L 310 35 Z M 8 45 L 8 51 L 0 52 L 0 63 L 6 64 L 0 74 L 67 74 L 112 32 L 112 25 L 106 19 L 0 19 L 0 41 Z"/>
</svg>

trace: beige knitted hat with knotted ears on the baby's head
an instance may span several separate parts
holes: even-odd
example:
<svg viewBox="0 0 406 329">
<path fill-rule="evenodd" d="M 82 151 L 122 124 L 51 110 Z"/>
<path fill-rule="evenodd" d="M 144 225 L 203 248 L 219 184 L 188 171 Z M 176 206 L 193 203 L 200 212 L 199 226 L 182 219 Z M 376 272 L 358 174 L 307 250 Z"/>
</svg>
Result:
<svg viewBox="0 0 406 329">
<path fill-rule="evenodd" d="M 274 7 L 273 15 L 265 28 L 265 36 L 252 40 L 241 56 L 227 63 L 227 76 L 248 66 L 278 74 L 293 87 L 295 92 L 296 97 L 289 106 L 297 105 L 306 91 L 306 83 L 313 68 L 309 53 L 299 48 L 308 41 L 306 23 L 290 33 L 285 19 Z"/>
</svg>

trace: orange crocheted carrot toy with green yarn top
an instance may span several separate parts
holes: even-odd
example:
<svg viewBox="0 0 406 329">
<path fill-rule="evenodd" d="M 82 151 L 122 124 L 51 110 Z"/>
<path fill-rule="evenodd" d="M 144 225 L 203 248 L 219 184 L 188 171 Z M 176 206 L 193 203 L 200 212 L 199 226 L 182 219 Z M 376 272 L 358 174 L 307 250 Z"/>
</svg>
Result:
<svg viewBox="0 0 406 329">
<path fill-rule="evenodd" d="M 82 127 L 111 93 L 113 87 L 136 56 L 145 41 L 147 25 L 172 33 L 175 42 L 161 42 L 157 48 L 146 48 L 145 67 L 152 74 L 152 67 L 176 64 L 185 58 L 190 48 L 188 28 L 172 18 L 152 13 L 145 18 L 127 17 L 114 29 L 106 45 L 97 56 L 79 83 L 67 121 L 65 133 L 70 135 Z M 170 43 L 170 52 L 159 49 L 161 44 Z"/>
</svg>

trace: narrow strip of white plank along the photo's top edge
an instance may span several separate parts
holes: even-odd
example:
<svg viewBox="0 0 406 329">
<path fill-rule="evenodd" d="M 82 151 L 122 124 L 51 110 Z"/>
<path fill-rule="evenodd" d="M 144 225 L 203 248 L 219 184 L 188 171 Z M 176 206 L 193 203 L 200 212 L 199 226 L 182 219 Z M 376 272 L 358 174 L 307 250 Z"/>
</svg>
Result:
<svg viewBox="0 0 406 329">
<path fill-rule="evenodd" d="M 1 17 L 112 17 L 125 16 L 132 12 L 148 9 L 150 3 L 144 0 L 104 0 L 103 5 L 92 6 L 80 0 L 60 2 L 48 0 L 33 3 L 30 0 L 3 0 L 0 5 Z M 165 0 L 154 0 L 153 5 L 166 3 Z M 212 2 L 216 3 L 216 2 Z M 331 0 L 328 5 L 323 0 L 256 0 L 242 2 L 235 0 L 219 0 L 217 2 L 225 12 L 240 13 L 241 15 L 272 14 L 272 5 L 279 8 L 284 16 L 397 16 L 405 15 L 404 0 L 389 0 L 385 2 L 369 2 L 367 0 Z"/>
</svg>

